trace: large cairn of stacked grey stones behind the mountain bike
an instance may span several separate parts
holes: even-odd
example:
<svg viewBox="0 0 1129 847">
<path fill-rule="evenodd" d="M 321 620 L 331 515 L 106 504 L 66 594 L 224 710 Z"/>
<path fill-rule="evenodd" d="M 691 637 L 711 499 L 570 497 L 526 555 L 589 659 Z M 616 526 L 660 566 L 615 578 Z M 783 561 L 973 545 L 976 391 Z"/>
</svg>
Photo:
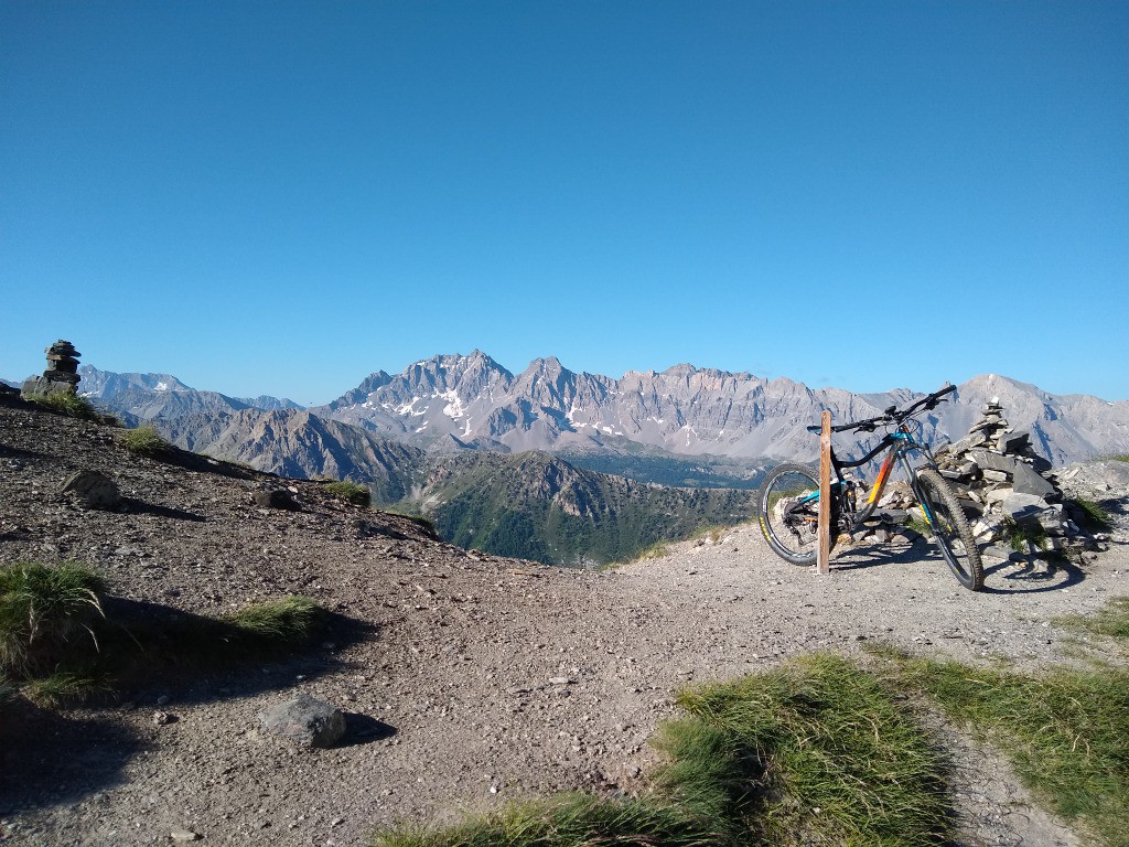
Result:
<svg viewBox="0 0 1129 847">
<path fill-rule="evenodd" d="M 1101 540 L 1076 523 L 1082 513 L 1064 503 L 1051 463 L 1034 452 L 1030 433 L 1008 426 L 997 398 L 968 436 L 937 451 L 937 463 L 986 552 L 1009 556 L 1017 530 L 1027 538 L 1045 536 L 1039 543 L 1048 550 L 1067 542 L 1094 548 Z"/>
</svg>

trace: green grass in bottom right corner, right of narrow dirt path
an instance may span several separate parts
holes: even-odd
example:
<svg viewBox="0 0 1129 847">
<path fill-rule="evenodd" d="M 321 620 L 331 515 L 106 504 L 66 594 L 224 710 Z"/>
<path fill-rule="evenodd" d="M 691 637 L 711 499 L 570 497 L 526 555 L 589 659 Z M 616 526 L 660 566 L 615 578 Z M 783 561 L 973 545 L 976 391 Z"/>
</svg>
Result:
<svg viewBox="0 0 1129 847">
<path fill-rule="evenodd" d="M 1001 750 L 1048 807 L 1106 847 L 1129 846 L 1129 671 L 1025 675 L 905 660 L 901 675 Z"/>
</svg>

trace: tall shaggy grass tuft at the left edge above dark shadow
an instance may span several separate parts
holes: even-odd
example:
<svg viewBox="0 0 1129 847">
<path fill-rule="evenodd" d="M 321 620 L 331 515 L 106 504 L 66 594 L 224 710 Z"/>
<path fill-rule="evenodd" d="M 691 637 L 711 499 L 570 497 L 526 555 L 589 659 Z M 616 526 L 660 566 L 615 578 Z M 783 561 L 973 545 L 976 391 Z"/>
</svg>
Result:
<svg viewBox="0 0 1129 847">
<path fill-rule="evenodd" d="M 78 562 L 0 567 L 0 671 L 20 679 L 54 667 L 78 637 L 95 638 L 106 579 Z"/>
</svg>

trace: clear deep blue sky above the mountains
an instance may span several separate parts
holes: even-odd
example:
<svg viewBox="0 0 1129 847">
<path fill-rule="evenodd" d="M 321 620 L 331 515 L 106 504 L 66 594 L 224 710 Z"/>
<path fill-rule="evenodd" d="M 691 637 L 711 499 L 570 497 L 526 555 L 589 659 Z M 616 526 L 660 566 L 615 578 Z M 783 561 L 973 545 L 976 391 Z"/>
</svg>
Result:
<svg viewBox="0 0 1129 847">
<path fill-rule="evenodd" d="M 0 376 L 1129 398 L 1129 6 L 0 3 Z"/>
</svg>

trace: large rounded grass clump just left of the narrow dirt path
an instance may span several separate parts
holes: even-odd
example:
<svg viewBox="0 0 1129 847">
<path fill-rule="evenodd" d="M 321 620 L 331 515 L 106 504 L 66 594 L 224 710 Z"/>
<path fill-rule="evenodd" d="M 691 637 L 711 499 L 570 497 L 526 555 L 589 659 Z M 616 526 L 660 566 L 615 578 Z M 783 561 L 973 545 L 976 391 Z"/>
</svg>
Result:
<svg viewBox="0 0 1129 847">
<path fill-rule="evenodd" d="M 683 691 L 660 784 L 770 844 L 944 844 L 943 756 L 872 674 L 830 654 Z M 691 737 L 692 737 L 691 735 Z M 682 736 L 680 739 L 680 736 Z M 728 810 L 727 812 L 725 810 Z"/>
</svg>

